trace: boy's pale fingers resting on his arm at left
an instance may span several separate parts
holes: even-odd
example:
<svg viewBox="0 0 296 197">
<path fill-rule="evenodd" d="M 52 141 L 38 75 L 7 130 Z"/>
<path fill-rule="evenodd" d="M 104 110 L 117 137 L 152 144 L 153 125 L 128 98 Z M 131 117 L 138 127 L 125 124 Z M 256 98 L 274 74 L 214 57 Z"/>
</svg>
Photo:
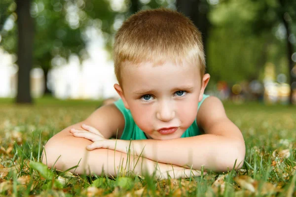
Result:
<svg viewBox="0 0 296 197">
<path fill-rule="evenodd" d="M 83 124 L 81 128 L 83 130 L 71 129 L 70 132 L 75 137 L 82 137 L 93 142 L 99 141 L 99 140 L 106 140 L 106 138 L 102 135 L 102 133 L 100 133 L 100 131 L 96 130 L 91 126 Z"/>
</svg>

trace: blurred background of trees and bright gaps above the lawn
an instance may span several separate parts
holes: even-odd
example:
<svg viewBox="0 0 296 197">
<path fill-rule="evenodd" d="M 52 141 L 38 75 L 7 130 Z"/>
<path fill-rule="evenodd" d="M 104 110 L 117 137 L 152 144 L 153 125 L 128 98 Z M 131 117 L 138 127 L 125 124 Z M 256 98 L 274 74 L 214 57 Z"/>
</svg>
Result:
<svg viewBox="0 0 296 197">
<path fill-rule="evenodd" d="M 207 94 L 296 104 L 294 0 L 0 0 L 0 97 L 117 98 L 114 34 L 131 14 L 160 6 L 202 32 Z"/>
</svg>

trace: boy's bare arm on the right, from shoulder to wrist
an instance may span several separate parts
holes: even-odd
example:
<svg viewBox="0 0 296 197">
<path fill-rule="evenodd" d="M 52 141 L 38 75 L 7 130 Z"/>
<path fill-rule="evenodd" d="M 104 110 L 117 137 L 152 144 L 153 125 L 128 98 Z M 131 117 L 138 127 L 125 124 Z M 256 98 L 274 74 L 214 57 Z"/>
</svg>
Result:
<svg viewBox="0 0 296 197">
<path fill-rule="evenodd" d="M 226 171 L 242 166 L 245 143 L 240 130 L 227 118 L 222 102 L 216 97 L 204 100 L 197 114 L 197 124 L 205 134 L 171 140 L 132 140 L 132 152 L 161 163 L 192 166 L 193 169 Z M 114 140 L 104 140 L 105 148 L 113 148 Z M 97 141 L 96 143 L 100 143 Z M 116 150 L 125 150 L 129 141 L 117 140 Z"/>
</svg>

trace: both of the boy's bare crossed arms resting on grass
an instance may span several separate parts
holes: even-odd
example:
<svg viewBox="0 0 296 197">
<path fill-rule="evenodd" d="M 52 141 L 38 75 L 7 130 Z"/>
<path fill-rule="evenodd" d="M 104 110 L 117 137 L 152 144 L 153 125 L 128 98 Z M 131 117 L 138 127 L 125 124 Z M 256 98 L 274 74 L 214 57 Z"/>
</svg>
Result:
<svg viewBox="0 0 296 197">
<path fill-rule="evenodd" d="M 111 113 L 110 110 L 116 109 L 108 108 L 101 112 L 103 115 L 100 118 L 91 115 L 96 121 L 88 118 L 53 136 L 45 145 L 42 162 L 49 167 L 66 170 L 80 161 L 75 169 L 78 174 L 102 174 L 104 171 L 113 176 L 122 167 L 136 174 L 142 174 L 143 169 L 152 174 L 157 168 L 156 176 L 161 178 L 167 178 L 168 175 L 175 178 L 200 175 L 200 171 L 191 171 L 190 168 L 200 170 L 202 165 L 206 170 L 227 171 L 232 169 L 235 162 L 235 168 L 243 164 L 243 136 L 226 117 L 221 101 L 215 97 L 205 99 L 197 114 L 197 123 L 205 134 L 172 140 L 113 140 L 109 139 L 111 135 L 108 132 L 103 135 L 93 127 L 82 126 L 92 123 L 112 125 L 112 121 L 104 119 L 107 113 Z M 111 129 L 115 127 L 118 128 L 118 125 Z M 100 127 L 101 130 L 108 129 Z M 85 147 L 92 151 L 87 151 Z M 130 154 L 127 154 L 128 149 Z M 126 167 L 127 161 L 132 165 Z"/>
</svg>

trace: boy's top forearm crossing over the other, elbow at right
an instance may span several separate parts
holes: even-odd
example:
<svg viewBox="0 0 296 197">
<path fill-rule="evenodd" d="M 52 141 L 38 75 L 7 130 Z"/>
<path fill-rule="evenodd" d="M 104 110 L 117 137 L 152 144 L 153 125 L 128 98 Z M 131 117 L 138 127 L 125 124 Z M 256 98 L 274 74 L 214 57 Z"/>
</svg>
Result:
<svg viewBox="0 0 296 197">
<path fill-rule="evenodd" d="M 125 149 L 128 143 L 130 141 L 117 140 L 116 150 Z M 198 170 L 204 165 L 205 169 L 225 171 L 232 169 L 235 160 L 235 168 L 238 168 L 245 157 L 242 140 L 213 134 L 171 140 L 132 140 L 130 147 L 132 154 L 135 152 L 153 161 L 192 166 Z"/>
</svg>

